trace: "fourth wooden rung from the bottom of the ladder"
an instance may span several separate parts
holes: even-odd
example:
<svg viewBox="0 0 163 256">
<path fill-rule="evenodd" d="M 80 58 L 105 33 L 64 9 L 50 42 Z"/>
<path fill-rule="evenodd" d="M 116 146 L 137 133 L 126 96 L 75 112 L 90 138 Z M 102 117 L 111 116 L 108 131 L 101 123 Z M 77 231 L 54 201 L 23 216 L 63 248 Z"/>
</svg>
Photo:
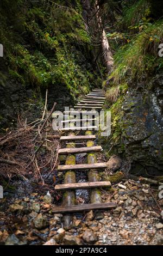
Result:
<svg viewBox="0 0 163 256">
<path fill-rule="evenodd" d="M 67 154 L 79 154 L 79 153 L 89 153 L 89 152 L 98 152 L 98 151 L 102 151 L 101 146 L 59 149 L 58 154 L 67 155 Z"/>
</svg>

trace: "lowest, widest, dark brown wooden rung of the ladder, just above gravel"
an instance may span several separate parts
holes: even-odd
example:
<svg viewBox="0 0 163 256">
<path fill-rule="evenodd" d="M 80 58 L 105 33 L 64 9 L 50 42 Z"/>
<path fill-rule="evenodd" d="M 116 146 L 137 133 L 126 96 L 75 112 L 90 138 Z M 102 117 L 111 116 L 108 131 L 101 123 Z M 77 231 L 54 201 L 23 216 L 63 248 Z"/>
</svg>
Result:
<svg viewBox="0 0 163 256">
<path fill-rule="evenodd" d="M 66 212 L 79 212 L 79 211 L 90 211 L 98 209 L 112 209 L 116 208 L 116 203 L 101 203 L 101 204 L 79 204 L 68 207 L 56 207 L 52 209 L 53 214 L 65 214 Z"/>
</svg>

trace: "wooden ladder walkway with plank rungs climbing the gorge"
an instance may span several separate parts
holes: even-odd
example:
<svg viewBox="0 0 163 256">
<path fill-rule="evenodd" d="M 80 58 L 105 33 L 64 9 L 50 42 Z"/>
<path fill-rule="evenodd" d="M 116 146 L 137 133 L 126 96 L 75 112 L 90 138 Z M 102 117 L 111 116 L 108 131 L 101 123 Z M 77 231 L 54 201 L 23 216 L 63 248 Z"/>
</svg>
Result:
<svg viewBox="0 0 163 256">
<path fill-rule="evenodd" d="M 82 113 L 86 109 L 92 109 L 94 111 L 99 111 L 102 109 L 103 103 L 105 101 L 105 92 L 103 89 L 94 89 L 92 90 L 91 93 L 87 94 L 84 99 L 82 99 L 77 106 L 74 106 L 74 108 L 77 108 L 77 111 Z M 89 110 L 90 111 L 90 110 Z M 66 112 L 65 114 L 69 114 L 72 112 Z M 75 113 L 75 111 L 74 111 Z M 93 113 L 93 111 L 91 112 Z M 62 121 L 63 123 L 68 123 L 72 121 L 80 121 L 82 124 L 86 121 L 96 121 L 96 118 L 90 118 L 90 119 L 70 119 L 68 121 Z M 102 147 L 99 145 L 95 145 L 94 141 L 96 139 L 96 135 L 92 134 L 91 130 L 96 130 L 96 125 L 91 126 L 89 123 L 85 124 L 84 126 L 81 127 L 66 127 L 61 129 L 61 131 L 69 131 L 70 134 L 68 136 L 61 136 L 60 140 L 61 142 L 68 142 L 68 147 L 67 148 L 62 148 L 59 149 L 58 154 L 59 155 L 68 155 L 68 159 L 73 157 L 74 164 L 68 163 L 64 165 L 59 165 L 58 166 L 58 172 L 79 172 L 79 171 L 88 171 L 89 174 L 91 175 L 92 172 L 97 173 L 99 170 L 105 169 L 107 167 L 107 163 L 97 163 L 95 161 L 95 157 L 92 155 L 93 153 L 102 151 Z M 73 131 L 75 130 L 85 130 L 85 135 L 75 135 Z M 87 131 L 89 130 L 89 131 Z M 82 141 L 83 143 L 87 143 L 87 147 L 80 147 L 76 148 L 76 142 L 77 141 Z M 82 143 L 81 143 L 82 144 Z M 75 155 L 76 154 L 81 154 L 81 153 L 87 153 L 88 158 L 87 161 L 88 163 L 84 164 L 76 164 L 75 163 Z M 68 161 L 67 161 L 68 162 Z M 88 182 L 64 182 L 64 184 L 57 184 L 55 185 L 55 190 L 56 191 L 74 191 L 74 190 L 79 190 L 79 189 L 91 189 L 95 192 L 97 192 L 97 189 L 100 187 L 110 187 L 111 184 L 109 181 L 99 181 L 99 180 L 93 180 L 91 179 Z M 74 194 L 73 194 L 74 195 Z M 68 199 L 68 197 L 67 197 Z M 62 205 L 59 207 L 56 207 L 52 210 L 53 213 L 71 213 L 71 212 L 78 212 L 78 211 L 88 211 L 88 210 L 95 210 L 95 209 L 111 209 L 115 208 L 116 204 L 115 203 L 101 203 L 101 197 L 98 198 L 97 202 L 91 202 L 90 204 L 83 204 L 83 205 L 75 205 L 72 202 L 67 203 L 66 205 Z"/>
</svg>

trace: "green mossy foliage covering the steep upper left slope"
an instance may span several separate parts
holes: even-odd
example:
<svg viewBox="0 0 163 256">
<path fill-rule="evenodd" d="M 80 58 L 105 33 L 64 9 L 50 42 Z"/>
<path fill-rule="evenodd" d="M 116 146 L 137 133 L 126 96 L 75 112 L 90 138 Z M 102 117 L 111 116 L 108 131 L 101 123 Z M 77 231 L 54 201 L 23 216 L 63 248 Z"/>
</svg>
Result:
<svg viewBox="0 0 163 256">
<path fill-rule="evenodd" d="M 62 84 L 73 97 L 81 93 L 81 88 L 86 93 L 97 75 L 85 65 L 91 62 L 87 45 L 90 39 L 81 19 L 80 2 L 75 3 L 74 9 L 74 1 L 68 6 L 65 1 L 45 4 L 14 0 L 12 22 L 10 11 L 7 12 L 10 3 L 3 2 L 0 42 L 5 45 L 4 59 L 10 76 L 36 90 Z M 81 62 L 83 55 L 86 61 Z"/>
</svg>

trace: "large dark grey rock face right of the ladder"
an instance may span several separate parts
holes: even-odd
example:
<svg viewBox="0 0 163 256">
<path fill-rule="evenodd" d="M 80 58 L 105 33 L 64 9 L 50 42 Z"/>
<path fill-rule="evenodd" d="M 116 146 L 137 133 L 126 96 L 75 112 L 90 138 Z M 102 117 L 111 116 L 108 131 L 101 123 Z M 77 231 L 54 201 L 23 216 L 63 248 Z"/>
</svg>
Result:
<svg viewBox="0 0 163 256">
<path fill-rule="evenodd" d="M 163 171 L 163 76 L 127 92 L 122 109 L 121 143 L 133 159 L 133 169 L 159 174 Z"/>
</svg>

